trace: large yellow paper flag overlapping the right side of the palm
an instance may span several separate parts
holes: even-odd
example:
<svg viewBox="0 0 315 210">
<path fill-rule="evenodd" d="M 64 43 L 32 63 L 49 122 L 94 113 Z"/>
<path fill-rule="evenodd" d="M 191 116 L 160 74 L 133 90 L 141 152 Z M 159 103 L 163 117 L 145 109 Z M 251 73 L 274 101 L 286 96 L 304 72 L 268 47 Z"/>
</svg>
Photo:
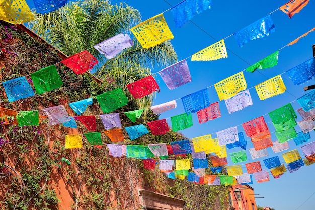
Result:
<svg viewBox="0 0 315 210">
<path fill-rule="evenodd" d="M 163 13 L 143 21 L 132 27 L 130 31 L 145 49 L 174 38 L 164 19 Z"/>
</svg>

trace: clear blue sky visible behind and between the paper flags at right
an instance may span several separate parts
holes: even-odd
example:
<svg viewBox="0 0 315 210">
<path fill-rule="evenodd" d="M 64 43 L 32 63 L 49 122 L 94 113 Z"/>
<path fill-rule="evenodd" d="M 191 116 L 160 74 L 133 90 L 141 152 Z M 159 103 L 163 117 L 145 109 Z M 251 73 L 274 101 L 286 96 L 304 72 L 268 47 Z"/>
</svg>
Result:
<svg viewBox="0 0 315 210">
<path fill-rule="evenodd" d="M 182 130 L 181 132 L 189 138 L 207 134 L 212 134 L 213 137 L 216 137 L 216 132 L 234 126 L 238 126 L 239 132 L 244 131 L 241 126 L 242 123 L 260 116 L 264 116 L 269 129 L 271 132 L 274 132 L 275 129 L 272 123 L 270 123 L 270 118 L 268 116 L 269 112 L 288 103 L 292 104 L 294 110 L 300 108 L 296 99 L 308 93 L 309 91 L 304 92 L 303 87 L 315 84 L 315 80 L 312 79 L 307 83 L 296 86 L 284 72 L 313 56 L 312 45 L 315 44 L 315 32 L 301 38 L 294 45 L 286 45 L 315 27 L 315 23 L 313 23 L 313 20 L 315 20 L 315 13 L 313 12 L 315 2 L 310 1 L 305 8 L 290 19 L 285 13 L 277 10 L 280 6 L 287 3 L 287 1 L 288 0 L 213 0 L 211 9 L 203 11 L 198 16 L 195 16 L 190 22 L 187 22 L 181 28 L 175 28 L 172 13 L 168 10 L 171 6 L 178 4 L 180 0 L 157 0 L 154 2 L 143 0 L 125 1 L 129 6 L 132 6 L 140 11 L 143 21 L 164 12 L 166 22 L 174 35 L 174 39 L 171 40 L 171 43 L 178 54 L 178 60 L 188 58 L 187 63 L 192 76 L 192 82 L 174 90 L 169 90 L 159 75 L 156 75 L 155 77 L 159 83 L 161 91 L 156 94 L 154 105 L 177 100 L 177 108 L 163 113 L 160 116 L 160 119 L 166 118 L 169 125 L 171 125 L 170 117 L 185 112 L 181 102 L 181 97 L 212 86 L 233 74 L 241 72 L 245 68 L 279 49 L 281 50 L 279 52 L 277 66 L 255 71 L 254 73 L 244 72 L 248 87 L 247 89 L 250 89 L 251 97 L 253 99 L 252 106 L 229 114 L 224 101 L 220 101 L 219 105 L 222 115 L 220 118 L 199 124 L 197 114 L 194 113 L 194 125 L 191 128 Z M 32 0 L 28 0 L 27 2 L 30 7 L 33 6 Z M 113 4 L 118 2 L 119 1 L 112 1 Z M 271 14 L 271 18 L 275 24 L 276 31 L 269 36 L 251 41 L 245 44 L 242 48 L 238 46 L 234 37 L 230 36 L 234 32 L 250 25 L 260 18 L 263 18 L 271 12 L 273 12 Z M 190 60 L 190 56 L 194 53 L 224 38 L 226 38 L 224 41 L 226 48 L 228 49 L 228 58 L 216 61 Z M 160 70 L 161 69 L 157 68 L 152 69 L 152 73 L 156 73 Z M 254 86 L 279 74 L 282 74 L 281 76 L 287 91 L 281 95 L 261 101 L 258 98 Z M 207 90 L 211 103 L 219 101 L 213 86 Z M 300 120 L 302 120 L 302 118 L 298 115 L 296 121 L 298 122 Z M 296 126 L 295 129 L 297 132 L 300 131 L 298 126 Z M 314 131 L 311 131 L 310 134 L 311 139 L 309 142 L 312 142 L 315 139 Z M 277 155 L 279 156 L 280 161 L 284 163 L 281 155 L 283 152 L 274 154 L 271 148 L 267 149 L 269 154 L 268 157 L 252 160 L 248 149 L 252 148 L 253 145 L 250 138 L 246 137 L 246 139 L 248 140 L 248 161 L 240 163 L 243 171 L 246 172 L 246 163 L 261 161 L 263 165 L 264 159 Z M 275 141 L 276 139 L 276 136 L 272 133 L 272 140 Z M 301 156 L 303 156 L 303 153 L 300 150 L 300 147 L 303 145 L 295 146 L 293 140 L 289 141 L 289 145 L 290 149 L 287 151 L 298 149 Z M 240 150 L 242 149 L 228 149 L 227 153 Z M 232 163 L 229 156 L 228 162 Z M 313 206 L 315 206 L 315 195 L 310 199 L 308 198 L 315 193 L 315 182 L 313 181 L 313 176 L 315 175 L 315 164 L 310 166 L 305 165 L 294 173 L 286 172 L 279 179 L 274 179 L 271 174 L 269 175 L 269 182 L 257 183 L 254 180 L 251 185 L 255 190 L 255 194 L 260 194 L 259 197 L 264 197 L 256 199 L 257 205 L 270 206 L 276 210 L 313 209 Z"/>
</svg>

